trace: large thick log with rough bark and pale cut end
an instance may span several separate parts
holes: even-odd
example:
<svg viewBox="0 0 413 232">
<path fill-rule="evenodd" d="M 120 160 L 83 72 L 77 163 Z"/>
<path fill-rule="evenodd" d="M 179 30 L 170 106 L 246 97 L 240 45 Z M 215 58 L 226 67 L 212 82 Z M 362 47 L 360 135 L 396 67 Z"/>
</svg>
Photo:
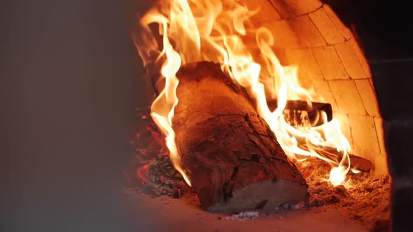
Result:
<svg viewBox="0 0 413 232">
<path fill-rule="evenodd" d="M 177 77 L 175 140 L 202 208 L 239 212 L 307 200 L 307 183 L 244 88 L 205 61 Z"/>
</svg>

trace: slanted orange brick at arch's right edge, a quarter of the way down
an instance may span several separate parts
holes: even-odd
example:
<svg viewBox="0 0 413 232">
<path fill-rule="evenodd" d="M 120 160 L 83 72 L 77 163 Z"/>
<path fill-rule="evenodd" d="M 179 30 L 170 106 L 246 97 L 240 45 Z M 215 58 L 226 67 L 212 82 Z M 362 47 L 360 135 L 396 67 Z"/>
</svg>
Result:
<svg viewBox="0 0 413 232">
<path fill-rule="evenodd" d="M 367 78 L 360 61 L 358 61 L 358 57 L 351 48 L 349 42 L 337 43 L 334 45 L 334 48 L 351 79 Z"/>
</svg>

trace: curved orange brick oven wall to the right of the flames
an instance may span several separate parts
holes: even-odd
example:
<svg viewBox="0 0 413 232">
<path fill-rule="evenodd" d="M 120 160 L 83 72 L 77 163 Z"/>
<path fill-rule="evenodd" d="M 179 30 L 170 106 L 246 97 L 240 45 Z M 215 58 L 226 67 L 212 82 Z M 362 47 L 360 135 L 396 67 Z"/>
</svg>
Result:
<svg viewBox="0 0 413 232">
<path fill-rule="evenodd" d="M 372 75 L 356 36 L 327 4 L 318 0 L 244 0 L 260 11 L 251 19 L 274 36 L 283 65 L 297 65 L 300 82 L 332 105 L 353 153 L 388 174 L 382 117 Z"/>
</svg>

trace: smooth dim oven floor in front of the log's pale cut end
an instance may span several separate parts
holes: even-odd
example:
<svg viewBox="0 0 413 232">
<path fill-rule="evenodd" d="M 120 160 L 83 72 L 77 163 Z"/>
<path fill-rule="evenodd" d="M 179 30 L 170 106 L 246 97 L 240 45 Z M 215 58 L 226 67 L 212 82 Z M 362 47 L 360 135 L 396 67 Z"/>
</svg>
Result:
<svg viewBox="0 0 413 232">
<path fill-rule="evenodd" d="M 366 225 L 338 208 L 302 208 L 260 212 L 253 219 L 238 219 L 232 215 L 205 212 L 197 196 L 151 197 L 126 194 L 130 216 L 137 231 L 272 231 L 272 232 L 339 232 L 370 231 Z"/>
</svg>

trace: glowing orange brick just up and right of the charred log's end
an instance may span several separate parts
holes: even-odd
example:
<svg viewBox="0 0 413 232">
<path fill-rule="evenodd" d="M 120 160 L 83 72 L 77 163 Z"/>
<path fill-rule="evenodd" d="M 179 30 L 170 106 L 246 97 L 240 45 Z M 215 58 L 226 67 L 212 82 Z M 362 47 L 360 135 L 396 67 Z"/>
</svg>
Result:
<svg viewBox="0 0 413 232">
<path fill-rule="evenodd" d="M 342 113 L 367 115 L 353 80 L 332 80 L 328 84 Z"/>
</svg>

